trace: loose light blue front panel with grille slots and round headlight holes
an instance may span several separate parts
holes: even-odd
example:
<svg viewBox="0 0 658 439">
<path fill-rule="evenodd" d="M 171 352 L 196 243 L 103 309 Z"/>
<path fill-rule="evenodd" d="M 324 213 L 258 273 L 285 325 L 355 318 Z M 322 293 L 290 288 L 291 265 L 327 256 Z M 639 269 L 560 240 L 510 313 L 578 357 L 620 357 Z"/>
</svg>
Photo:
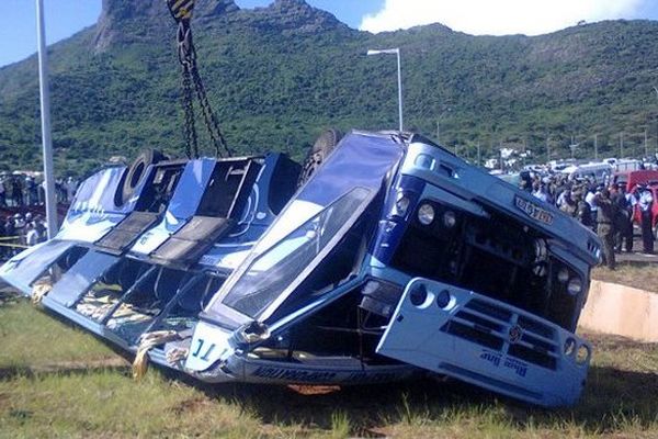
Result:
<svg viewBox="0 0 658 439">
<path fill-rule="evenodd" d="M 543 406 L 572 405 L 582 392 L 585 340 L 485 295 L 415 279 L 390 322 L 383 356 Z"/>
</svg>

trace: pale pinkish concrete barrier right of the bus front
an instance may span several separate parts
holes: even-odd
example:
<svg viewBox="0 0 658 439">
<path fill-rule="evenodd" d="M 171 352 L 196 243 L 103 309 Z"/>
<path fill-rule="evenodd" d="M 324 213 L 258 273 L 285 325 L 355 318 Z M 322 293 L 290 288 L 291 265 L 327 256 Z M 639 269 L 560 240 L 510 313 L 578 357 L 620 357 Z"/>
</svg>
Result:
<svg viewBox="0 0 658 439">
<path fill-rule="evenodd" d="M 658 342 L 658 293 L 592 281 L 579 327 Z"/>
</svg>

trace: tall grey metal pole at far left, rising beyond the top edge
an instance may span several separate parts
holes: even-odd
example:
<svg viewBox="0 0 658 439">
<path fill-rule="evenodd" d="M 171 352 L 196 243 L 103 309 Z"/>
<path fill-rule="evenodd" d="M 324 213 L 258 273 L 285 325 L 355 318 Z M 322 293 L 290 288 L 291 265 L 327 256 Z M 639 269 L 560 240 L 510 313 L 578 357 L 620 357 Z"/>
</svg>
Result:
<svg viewBox="0 0 658 439">
<path fill-rule="evenodd" d="M 58 218 L 55 200 L 55 175 L 53 172 L 50 92 L 48 86 L 48 55 L 46 53 L 46 25 L 44 21 L 43 0 L 36 0 L 36 36 L 38 41 L 38 82 L 41 95 L 42 147 L 44 151 L 44 180 L 46 182 L 46 224 L 48 226 L 48 239 L 52 239 L 58 232 Z"/>
</svg>

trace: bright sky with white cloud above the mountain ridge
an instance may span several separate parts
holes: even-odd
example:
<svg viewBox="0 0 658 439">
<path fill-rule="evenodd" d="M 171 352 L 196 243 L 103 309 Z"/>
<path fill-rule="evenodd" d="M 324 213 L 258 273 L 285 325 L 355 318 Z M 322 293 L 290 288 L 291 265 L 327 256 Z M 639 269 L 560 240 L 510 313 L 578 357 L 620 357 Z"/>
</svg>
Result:
<svg viewBox="0 0 658 439">
<path fill-rule="evenodd" d="M 144 0 L 140 0 L 144 1 Z M 162 0 L 164 1 L 164 0 Z M 204 1 L 204 0 L 198 0 Z M 354 29 L 371 32 L 441 22 L 472 34 L 536 35 L 580 20 L 658 20 L 656 0 L 307 0 Z M 95 23 L 101 0 L 44 0 L 48 44 Z M 240 8 L 271 0 L 236 0 Z M 0 66 L 36 50 L 34 0 L 0 0 Z"/>
</svg>

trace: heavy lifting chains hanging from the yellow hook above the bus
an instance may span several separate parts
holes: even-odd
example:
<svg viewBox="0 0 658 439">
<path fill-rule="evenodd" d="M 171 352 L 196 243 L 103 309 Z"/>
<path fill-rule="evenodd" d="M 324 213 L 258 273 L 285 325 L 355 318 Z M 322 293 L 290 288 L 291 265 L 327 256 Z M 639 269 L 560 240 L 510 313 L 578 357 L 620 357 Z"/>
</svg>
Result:
<svg viewBox="0 0 658 439">
<path fill-rule="evenodd" d="M 192 20 L 192 11 L 194 9 L 194 0 L 167 0 L 167 5 L 171 15 L 177 21 L 178 29 L 178 56 L 182 66 L 183 75 L 183 110 L 185 113 L 185 154 L 188 158 L 198 157 L 198 137 L 196 135 L 196 126 L 194 123 L 194 92 L 198 99 L 201 112 L 204 117 L 205 126 L 215 147 L 217 157 L 223 157 L 222 150 L 228 156 L 231 150 L 226 144 L 226 139 L 219 128 L 217 117 L 211 108 L 208 97 L 203 86 L 198 68 L 196 66 L 196 49 L 192 41 L 192 30 L 190 21 Z M 192 91 L 194 86 L 194 92 Z"/>
</svg>

